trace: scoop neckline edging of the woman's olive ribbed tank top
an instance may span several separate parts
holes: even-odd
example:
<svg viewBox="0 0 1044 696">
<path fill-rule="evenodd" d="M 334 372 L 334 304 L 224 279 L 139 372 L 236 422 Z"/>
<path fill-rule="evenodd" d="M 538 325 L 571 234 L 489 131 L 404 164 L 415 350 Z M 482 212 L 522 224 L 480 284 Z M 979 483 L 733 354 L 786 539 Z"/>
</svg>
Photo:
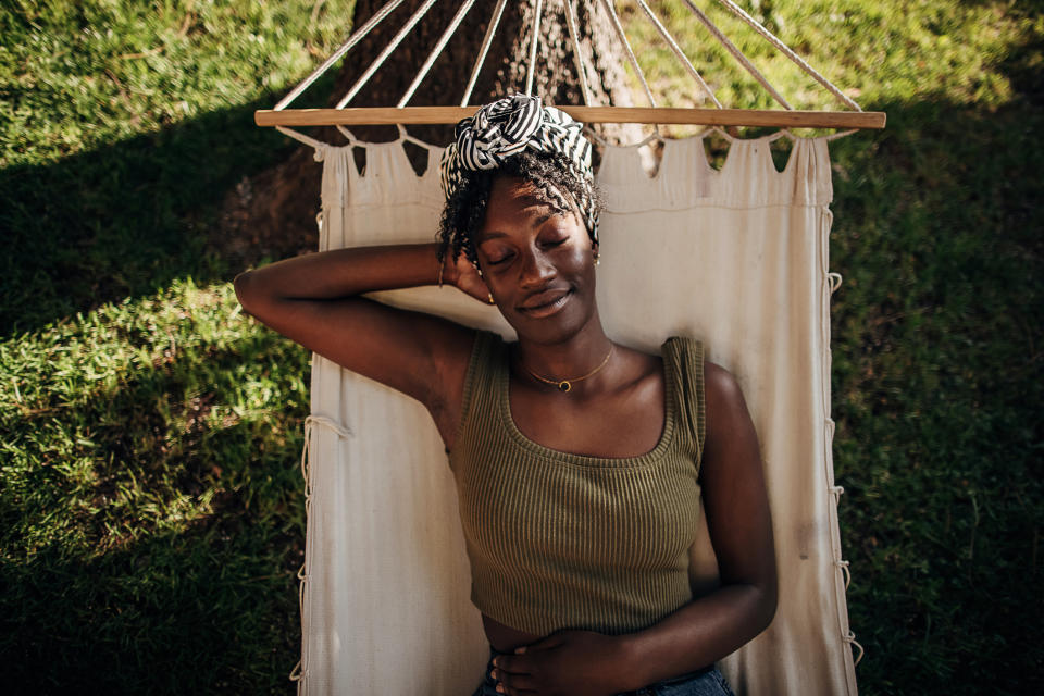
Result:
<svg viewBox="0 0 1044 696">
<path fill-rule="evenodd" d="M 673 362 L 667 360 L 666 357 L 661 356 L 660 358 L 663 362 L 663 431 L 660 433 L 660 439 L 656 443 L 656 446 L 649 451 L 635 455 L 634 457 L 595 457 L 593 455 L 568 452 L 540 445 L 519 430 L 518 424 L 514 422 L 514 415 L 511 413 L 511 362 L 508 350 L 509 344 L 501 344 L 501 359 L 499 361 L 497 375 L 499 415 L 511 439 L 522 449 L 557 464 L 600 469 L 638 468 L 656 463 L 656 461 L 662 459 L 663 453 L 674 442 L 674 412 L 676 410 L 675 383 L 678 380 L 674 374 Z"/>
</svg>

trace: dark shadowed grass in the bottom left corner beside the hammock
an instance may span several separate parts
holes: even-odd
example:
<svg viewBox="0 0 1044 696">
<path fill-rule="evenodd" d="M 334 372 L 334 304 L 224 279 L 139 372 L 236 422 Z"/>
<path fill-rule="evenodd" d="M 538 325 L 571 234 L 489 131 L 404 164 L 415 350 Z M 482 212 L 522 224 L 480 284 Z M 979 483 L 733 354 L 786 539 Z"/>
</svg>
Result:
<svg viewBox="0 0 1044 696">
<path fill-rule="evenodd" d="M 90 560 L 48 550 L 0 566 L 5 689 L 290 693 L 296 580 L 273 572 L 269 537 L 200 523 Z"/>
</svg>

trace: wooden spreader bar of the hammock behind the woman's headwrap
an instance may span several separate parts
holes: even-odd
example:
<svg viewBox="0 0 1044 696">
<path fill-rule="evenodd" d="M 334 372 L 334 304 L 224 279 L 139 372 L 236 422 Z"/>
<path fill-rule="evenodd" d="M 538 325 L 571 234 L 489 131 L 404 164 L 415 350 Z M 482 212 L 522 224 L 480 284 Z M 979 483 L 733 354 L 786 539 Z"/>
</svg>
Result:
<svg viewBox="0 0 1044 696">
<path fill-rule="evenodd" d="M 561 107 L 583 123 L 657 123 L 707 126 L 767 126 L 776 128 L 884 127 L 883 111 L 785 111 L 782 109 L 675 109 L 669 107 Z M 261 109 L 253 112 L 259 126 L 334 126 L 397 124 L 455 124 L 478 107 L 353 107 L 346 109 Z"/>
</svg>

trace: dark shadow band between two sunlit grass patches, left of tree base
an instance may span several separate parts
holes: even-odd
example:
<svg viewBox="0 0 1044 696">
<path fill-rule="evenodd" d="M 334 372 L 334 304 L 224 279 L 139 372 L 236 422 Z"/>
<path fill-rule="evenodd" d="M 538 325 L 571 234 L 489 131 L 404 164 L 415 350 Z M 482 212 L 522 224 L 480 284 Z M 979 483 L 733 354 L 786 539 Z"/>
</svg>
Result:
<svg viewBox="0 0 1044 696">
<path fill-rule="evenodd" d="M 273 100 L 0 171 L 2 335 L 150 295 L 176 277 L 226 277 L 207 248 L 222 199 L 296 146 L 253 125 L 253 111 Z"/>
</svg>

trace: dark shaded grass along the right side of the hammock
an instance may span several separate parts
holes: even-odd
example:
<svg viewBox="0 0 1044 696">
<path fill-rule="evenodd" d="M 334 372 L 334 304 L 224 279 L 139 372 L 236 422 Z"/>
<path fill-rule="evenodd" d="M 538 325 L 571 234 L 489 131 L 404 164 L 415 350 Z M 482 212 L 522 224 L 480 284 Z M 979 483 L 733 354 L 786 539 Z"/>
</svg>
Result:
<svg viewBox="0 0 1044 696">
<path fill-rule="evenodd" d="M 833 405 L 860 692 L 1040 693 L 1044 112 L 927 95 L 831 144 Z M 1032 671 L 1032 670 L 1031 670 Z"/>
</svg>

